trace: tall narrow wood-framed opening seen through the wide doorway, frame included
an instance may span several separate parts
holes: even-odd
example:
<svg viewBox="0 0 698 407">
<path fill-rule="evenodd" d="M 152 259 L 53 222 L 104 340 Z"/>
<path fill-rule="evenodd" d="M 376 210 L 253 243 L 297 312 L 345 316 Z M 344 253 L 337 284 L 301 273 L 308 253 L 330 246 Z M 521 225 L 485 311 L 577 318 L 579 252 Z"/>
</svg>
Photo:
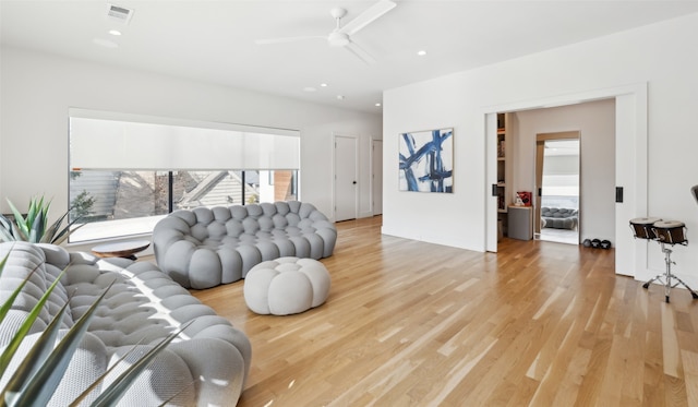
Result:
<svg viewBox="0 0 698 407">
<path fill-rule="evenodd" d="M 537 135 L 537 239 L 579 244 L 579 132 Z"/>
</svg>

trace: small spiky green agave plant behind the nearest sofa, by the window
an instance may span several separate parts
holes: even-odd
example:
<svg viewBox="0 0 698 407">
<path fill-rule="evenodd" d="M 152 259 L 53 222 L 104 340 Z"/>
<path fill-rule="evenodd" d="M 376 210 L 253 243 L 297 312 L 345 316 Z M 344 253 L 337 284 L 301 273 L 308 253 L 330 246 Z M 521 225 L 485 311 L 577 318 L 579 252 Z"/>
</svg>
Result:
<svg viewBox="0 0 698 407">
<path fill-rule="evenodd" d="M 46 201 L 44 196 L 29 200 L 29 207 L 26 215 L 22 215 L 20 211 L 8 200 L 14 222 L 0 215 L 0 241 L 27 241 L 29 243 L 52 243 L 60 244 L 71 232 L 77 230 L 83 225 L 73 228 L 80 218 L 73 219 L 62 227 L 63 220 L 72 210 L 69 208 L 58 220 L 48 224 L 48 211 L 51 207 L 51 201 Z"/>
</svg>

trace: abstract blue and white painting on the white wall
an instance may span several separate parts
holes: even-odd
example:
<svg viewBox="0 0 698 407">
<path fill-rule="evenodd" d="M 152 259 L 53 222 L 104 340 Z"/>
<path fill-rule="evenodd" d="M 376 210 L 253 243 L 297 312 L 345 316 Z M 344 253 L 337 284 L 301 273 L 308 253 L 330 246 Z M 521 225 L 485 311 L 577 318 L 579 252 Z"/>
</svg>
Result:
<svg viewBox="0 0 698 407">
<path fill-rule="evenodd" d="M 400 191 L 454 192 L 454 129 L 400 134 Z"/>
</svg>

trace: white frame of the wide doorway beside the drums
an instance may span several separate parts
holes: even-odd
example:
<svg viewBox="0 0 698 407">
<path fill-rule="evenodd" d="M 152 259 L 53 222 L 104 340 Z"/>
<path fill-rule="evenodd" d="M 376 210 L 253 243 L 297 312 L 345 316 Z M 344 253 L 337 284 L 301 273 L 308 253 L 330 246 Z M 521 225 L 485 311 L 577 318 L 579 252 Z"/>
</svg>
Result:
<svg viewBox="0 0 698 407">
<path fill-rule="evenodd" d="M 496 113 L 615 98 L 616 145 L 625 144 L 633 147 L 633 152 L 616 149 L 616 184 L 624 187 L 625 201 L 623 204 L 616 204 L 615 273 L 638 279 L 651 274 L 648 268 L 647 243 L 634 241 L 629 232 L 626 234 L 627 237 L 622 235 L 622 230 L 627 231 L 629 219 L 647 216 L 648 211 L 647 87 L 648 83 L 641 82 L 481 108 L 480 124 L 484 134 L 483 153 L 485 155 L 485 182 L 482 185 L 485 197 L 485 222 L 482 237 L 486 251 L 497 251 L 496 197 L 491 196 L 489 191 L 489 187 L 496 183 Z M 624 171 L 626 168 L 630 170 Z M 618 216 L 618 213 L 623 216 Z"/>
</svg>

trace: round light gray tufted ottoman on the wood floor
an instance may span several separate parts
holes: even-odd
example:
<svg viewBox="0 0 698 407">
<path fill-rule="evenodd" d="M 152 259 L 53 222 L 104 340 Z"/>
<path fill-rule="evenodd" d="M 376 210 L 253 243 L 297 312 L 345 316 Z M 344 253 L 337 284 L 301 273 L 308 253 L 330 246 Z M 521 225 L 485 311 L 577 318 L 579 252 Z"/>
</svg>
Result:
<svg viewBox="0 0 698 407">
<path fill-rule="evenodd" d="M 321 306 L 329 294 L 329 273 L 313 259 L 279 258 L 248 272 L 244 302 L 258 314 L 289 315 Z"/>
</svg>

